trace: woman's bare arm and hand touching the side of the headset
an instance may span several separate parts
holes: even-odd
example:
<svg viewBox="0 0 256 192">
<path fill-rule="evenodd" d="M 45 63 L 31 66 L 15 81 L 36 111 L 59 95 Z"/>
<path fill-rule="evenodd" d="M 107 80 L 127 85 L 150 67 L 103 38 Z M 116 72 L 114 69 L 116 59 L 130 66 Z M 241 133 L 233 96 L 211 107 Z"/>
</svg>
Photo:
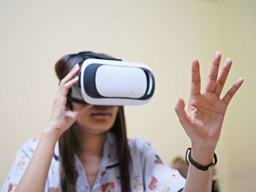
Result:
<svg viewBox="0 0 256 192">
<path fill-rule="evenodd" d="M 43 131 L 37 149 L 15 191 L 29 192 L 45 190 L 45 182 L 47 180 L 56 142 L 60 135 L 75 123 L 77 113 L 68 110 L 66 102 L 69 88 L 78 82 L 78 77 L 75 77 L 78 71 L 79 66 L 76 65 L 69 74 L 61 80 L 59 91 L 53 103 L 48 128 Z"/>
</svg>

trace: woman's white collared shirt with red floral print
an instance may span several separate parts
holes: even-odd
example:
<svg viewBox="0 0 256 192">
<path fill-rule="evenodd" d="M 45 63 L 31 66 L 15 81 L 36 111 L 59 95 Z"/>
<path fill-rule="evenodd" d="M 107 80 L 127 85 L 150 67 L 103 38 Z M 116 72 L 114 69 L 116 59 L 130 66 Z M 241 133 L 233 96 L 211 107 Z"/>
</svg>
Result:
<svg viewBox="0 0 256 192">
<path fill-rule="evenodd" d="M 38 142 L 38 139 L 30 139 L 18 150 L 1 192 L 15 190 L 36 150 Z M 129 149 L 132 158 L 132 164 L 129 167 L 131 191 L 182 191 L 185 184 L 184 177 L 181 177 L 176 169 L 171 169 L 163 163 L 150 143 L 144 139 L 129 139 Z M 76 183 L 78 192 L 121 191 L 114 135 L 108 132 L 106 136 L 102 161 L 93 187 L 90 187 L 83 165 L 77 155 L 75 155 L 75 169 L 78 171 Z M 59 145 L 57 142 L 45 183 L 45 192 L 61 191 L 59 173 Z"/>
</svg>

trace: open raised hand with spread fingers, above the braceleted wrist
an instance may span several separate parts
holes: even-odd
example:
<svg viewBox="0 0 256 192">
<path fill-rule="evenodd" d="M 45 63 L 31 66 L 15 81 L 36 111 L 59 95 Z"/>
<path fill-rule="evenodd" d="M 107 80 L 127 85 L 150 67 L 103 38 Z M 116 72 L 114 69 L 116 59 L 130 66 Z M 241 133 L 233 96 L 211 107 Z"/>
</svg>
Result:
<svg viewBox="0 0 256 192">
<path fill-rule="evenodd" d="M 199 63 L 197 60 L 193 61 L 192 88 L 187 112 L 184 110 L 183 99 L 179 99 L 176 105 L 181 125 L 192 142 L 208 142 L 217 145 L 227 105 L 243 82 L 239 79 L 222 99 L 219 98 L 232 64 L 232 61 L 227 59 L 217 80 L 220 58 L 220 53 L 217 53 L 204 93 L 200 93 Z"/>
</svg>

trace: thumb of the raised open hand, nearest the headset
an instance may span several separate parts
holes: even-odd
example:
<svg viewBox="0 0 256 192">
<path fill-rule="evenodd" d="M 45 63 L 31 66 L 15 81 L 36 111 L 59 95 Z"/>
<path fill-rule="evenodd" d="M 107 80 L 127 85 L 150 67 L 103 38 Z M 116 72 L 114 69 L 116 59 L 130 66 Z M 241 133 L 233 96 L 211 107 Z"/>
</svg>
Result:
<svg viewBox="0 0 256 192">
<path fill-rule="evenodd" d="M 185 102 L 183 99 L 178 99 L 178 103 L 176 104 L 175 111 L 178 115 L 178 120 L 181 122 L 181 126 L 187 127 L 189 126 L 189 118 L 187 117 L 187 112 L 184 109 Z"/>
</svg>

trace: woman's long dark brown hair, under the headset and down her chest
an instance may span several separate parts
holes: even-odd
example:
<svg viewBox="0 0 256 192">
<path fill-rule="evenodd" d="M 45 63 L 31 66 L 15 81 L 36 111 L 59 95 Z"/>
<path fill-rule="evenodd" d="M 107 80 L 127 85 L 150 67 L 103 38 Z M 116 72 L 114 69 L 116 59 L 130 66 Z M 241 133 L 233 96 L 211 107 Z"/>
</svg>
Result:
<svg viewBox="0 0 256 192">
<path fill-rule="evenodd" d="M 86 58 L 115 59 L 108 55 L 93 52 L 81 52 L 65 55 L 55 65 L 55 71 L 59 80 L 63 79 L 75 64 L 79 64 Z M 68 100 L 67 107 L 72 110 L 72 104 Z M 130 192 L 129 180 L 129 147 L 127 142 L 127 129 L 124 118 L 124 107 L 118 107 L 116 121 L 110 131 L 116 136 L 116 147 L 118 155 L 118 168 L 120 173 L 121 191 Z M 61 164 L 61 188 L 62 191 L 75 192 L 75 184 L 78 172 L 75 170 L 74 155 L 78 149 L 78 142 L 72 126 L 59 138 L 59 155 Z"/>
</svg>

